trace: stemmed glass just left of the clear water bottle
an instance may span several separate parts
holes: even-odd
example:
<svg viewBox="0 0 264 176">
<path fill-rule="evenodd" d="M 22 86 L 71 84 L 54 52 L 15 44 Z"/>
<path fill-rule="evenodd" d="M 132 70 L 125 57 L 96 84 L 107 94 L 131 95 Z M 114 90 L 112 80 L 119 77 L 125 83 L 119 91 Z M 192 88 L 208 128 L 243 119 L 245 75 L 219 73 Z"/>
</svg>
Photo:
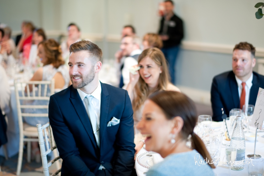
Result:
<svg viewBox="0 0 264 176">
<path fill-rule="evenodd" d="M 236 159 L 236 144 L 225 145 L 226 164 L 229 167 L 228 176 L 230 176 L 231 167 L 234 165 Z"/>
</svg>

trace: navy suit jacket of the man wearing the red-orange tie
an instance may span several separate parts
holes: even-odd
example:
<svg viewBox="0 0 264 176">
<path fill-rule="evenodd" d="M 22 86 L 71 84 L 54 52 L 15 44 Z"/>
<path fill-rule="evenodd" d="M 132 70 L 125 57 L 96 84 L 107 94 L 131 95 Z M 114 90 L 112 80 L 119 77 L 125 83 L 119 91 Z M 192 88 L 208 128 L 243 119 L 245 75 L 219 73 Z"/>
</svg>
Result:
<svg viewBox="0 0 264 176">
<path fill-rule="evenodd" d="M 256 104 L 259 87 L 264 88 L 264 76 L 253 72 L 252 87 L 249 94 L 248 104 Z M 224 72 L 213 78 L 211 87 L 211 102 L 214 121 L 223 121 L 221 108 L 229 117 L 229 111 L 240 108 L 238 85 L 233 71 Z"/>
</svg>

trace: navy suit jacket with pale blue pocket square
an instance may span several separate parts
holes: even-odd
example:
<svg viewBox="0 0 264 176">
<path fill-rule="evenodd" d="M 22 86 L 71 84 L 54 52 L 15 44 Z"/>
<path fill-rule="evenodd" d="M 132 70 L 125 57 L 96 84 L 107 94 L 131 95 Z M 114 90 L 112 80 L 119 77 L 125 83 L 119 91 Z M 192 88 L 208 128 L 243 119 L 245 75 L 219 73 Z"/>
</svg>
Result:
<svg viewBox="0 0 264 176">
<path fill-rule="evenodd" d="M 101 83 L 99 140 L 77 89 L 68 87 L 50 97 L 49 121 L 62 158 L 61 175 L 94 175 L 102 164 L 111 175 L 134 169 L 133 110 L 126 90 Z M 120 123 L 107 127 L 115 117 Z"/>
</svg>

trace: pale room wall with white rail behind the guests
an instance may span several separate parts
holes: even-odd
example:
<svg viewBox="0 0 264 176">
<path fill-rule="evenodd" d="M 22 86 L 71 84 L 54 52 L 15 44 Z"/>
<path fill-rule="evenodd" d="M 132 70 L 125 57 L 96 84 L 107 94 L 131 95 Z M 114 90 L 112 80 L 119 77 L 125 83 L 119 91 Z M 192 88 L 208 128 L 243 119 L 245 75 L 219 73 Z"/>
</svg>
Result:
<svg viewBox="0 0 264 176">
<path fill-rule="evenodd" d="M 157 32 L 158 2 L 162 1 L 0 0 L 0 22 L 19 31 L 21 21 L 30 20 L 53 35 L 66 32 L 67 25 L 75 22 L 84 35 L 97 36 L 95 42 L 103 51 L 103 33 L 107 33 L 112 39 L 108 42 L 108 54 L 113 58 L 119 48 L 122 26 L 134 25 L 141 37 L 147 32 Z M 175 0 L 175 12 L 183 19 L 185 32 L 185 43 L 176 66 L 178 86 L 209 93 L 213 76 L 231 69 L 232 48 L 240 41 L 252 43 L 257 47 L 257 55 L 264 56 L 264 18 L 255 18 L 257 2 L 259 0 Z"/>
</svg>

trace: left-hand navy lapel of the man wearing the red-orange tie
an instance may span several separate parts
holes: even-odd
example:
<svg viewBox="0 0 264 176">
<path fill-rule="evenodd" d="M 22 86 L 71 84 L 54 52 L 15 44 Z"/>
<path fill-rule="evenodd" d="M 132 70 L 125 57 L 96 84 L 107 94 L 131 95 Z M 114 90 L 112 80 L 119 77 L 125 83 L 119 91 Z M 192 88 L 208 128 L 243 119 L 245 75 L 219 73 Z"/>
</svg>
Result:
<svg viewBox="0 0 264 176">
<path fill-rule="evenodd" d="M 240 108 L 240 99 L 238 93 L 238 85 L 233 72 L 230 72 L 229 86 L 231 90 L 231 96 L 234 103 L 234 108 Z"/>
</svg>

